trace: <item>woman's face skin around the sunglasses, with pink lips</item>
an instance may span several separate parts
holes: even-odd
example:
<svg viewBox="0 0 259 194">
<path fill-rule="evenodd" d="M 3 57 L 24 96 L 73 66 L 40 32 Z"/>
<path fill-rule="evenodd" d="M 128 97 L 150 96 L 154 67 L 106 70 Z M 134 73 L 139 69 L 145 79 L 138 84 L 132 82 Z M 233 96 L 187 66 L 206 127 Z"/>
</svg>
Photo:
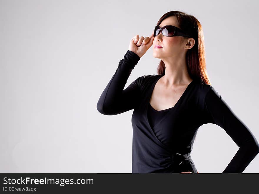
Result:
<svg viewBox="0 0 259 194">
<path fill-rule="evenodd" d="M 177 18 L 175 16 L 170 16 L 164 19 L 160 27 L 163 27 L 165 25 L 173 25 L 178 28 L 179 23 L 177 21 Z M 159 35 L 157 35 L 154 38 L 153 41 L 153 57 L 159 58 L 161 60 L 165 60 L 168 57 L 177 57 L 185 53 L 185 44 L 187 43 L 187 38 L 182 36 L 163 36 L 161 31 Z M 155 45 L 162 46 L 162 48 L 155 48 Z"/>
</svg>

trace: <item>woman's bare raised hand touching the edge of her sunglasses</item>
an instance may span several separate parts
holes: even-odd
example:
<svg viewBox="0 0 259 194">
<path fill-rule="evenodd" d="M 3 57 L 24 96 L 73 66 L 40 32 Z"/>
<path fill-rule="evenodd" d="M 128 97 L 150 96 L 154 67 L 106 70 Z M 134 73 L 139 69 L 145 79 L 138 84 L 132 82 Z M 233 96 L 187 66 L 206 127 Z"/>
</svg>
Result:
<svg viewBox="0 0 259 194">
<path fill-rule="evenodd" d="M 147 52 L 147 50 L 151 47 L 154 40 L 154 33 L 152 33 L 149 37 L 144 38 L 143 36 L 139 37 L 139 35 L 134 36 L 129 43 L 129 49 L 132 52 L 136 53 L 140 58 Z"/>
</svg>

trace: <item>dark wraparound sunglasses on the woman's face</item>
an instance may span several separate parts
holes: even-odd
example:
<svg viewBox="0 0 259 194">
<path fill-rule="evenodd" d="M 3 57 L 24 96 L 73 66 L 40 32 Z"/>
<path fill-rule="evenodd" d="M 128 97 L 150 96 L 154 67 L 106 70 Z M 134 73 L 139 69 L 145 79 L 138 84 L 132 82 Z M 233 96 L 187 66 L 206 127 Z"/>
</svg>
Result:
<svg viewBox="0 0 259 194">
<path fill-rule="evenodd" d="M 154 37 L 159 35 L 160 31 L 162 32 L 163 36 L 184 36 L 190 38 L 190 36 L 185 34 L 183 30 L 172 25 L 166 25 L 162 28 L 155 26 Z"/>
</svg>

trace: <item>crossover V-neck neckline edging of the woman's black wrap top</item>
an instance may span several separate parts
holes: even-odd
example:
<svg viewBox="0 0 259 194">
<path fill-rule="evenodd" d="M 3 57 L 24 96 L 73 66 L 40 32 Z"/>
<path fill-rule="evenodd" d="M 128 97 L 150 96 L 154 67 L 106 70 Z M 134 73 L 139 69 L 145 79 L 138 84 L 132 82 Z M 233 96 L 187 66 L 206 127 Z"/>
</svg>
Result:
<svg viewBox="0 0 259 194">
<path fill-rule="evenodd" d="M 157 79 L 154 81 L 154 83 L 152 84 L 151 89 L 150 89 L 150 92 L 149 92 L 149 94 L 148 94 L 147 105 L 150 105 L 150 99 L 151 99 L 152 93 L 153 93 L 153 91 L 154 91 L 155 85 L 156 85 L 157 82 L 161 79 L 162 76 L 163 76 L 163 75 L 159 75 L 159 76 L 157 77 Z M 157 124 L 155 124 L 155 125 L 153 126 L 153 128 L 150 126 L 150 123 L 149 123 L 149 120 L 148 120 L 148 117 L 147 117 L 148 106 L 145 108 L 145 118 L 146 118 L 146 120 L 147 120 L 147 123 L 148 123 L 149 128 L 151 129 L 153 135 L 154 135 L 156 138 L 157 138 L 157 136 L 155 135 L 153 129 L 154 129 L 155 127 L 157 127 L 157 125 L 159 125 L 159 124 L 172 112 L 172 110 L 174 110 L 175 107 L 182 101 L 182 99 L 183 99 L 184 96 L 186 95 L 188 89 L 190 88 L 190 86 L 191 86 L 193 83 L 194 83 L 194 79 L 190 82 L 190 84 L 188 84 L 188 86 L 186 87 L 185 91 L 182 93 L 181 97 L 180 97 L 179 100 L 175 103 L 175 105 L 174 105 L 173 107 L 169 108 L 170 110 L 157 122 Z M 155 110 L 155 109 L 154 109 L 154 110 Z M 165 109 L 165 110 L 167 110 L 167 109 Z M 163 110 L 160 110 L 160 111 L 163 111 Z M 159 141 L 158 138 L 157 138 L 157 140 Z"/>
</svg>

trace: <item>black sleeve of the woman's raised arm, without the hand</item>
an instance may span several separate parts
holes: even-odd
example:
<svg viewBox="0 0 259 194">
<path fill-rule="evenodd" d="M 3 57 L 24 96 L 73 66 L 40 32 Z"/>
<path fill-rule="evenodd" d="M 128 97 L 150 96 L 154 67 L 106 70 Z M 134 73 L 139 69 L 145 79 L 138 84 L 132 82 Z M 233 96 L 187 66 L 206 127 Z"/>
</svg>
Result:
<svg viewBox="0 0 259 194">
<path fill-rule="evenodd" d="M 126 89 L 126 82 L 140 57 L 127 50 L 124 59 L 109 81 L 97 102 L 97 110 L 104 115 L 117 115 L 134 109 L 140 98 L 139 79 L 133 81 Z"/>
</svg>

